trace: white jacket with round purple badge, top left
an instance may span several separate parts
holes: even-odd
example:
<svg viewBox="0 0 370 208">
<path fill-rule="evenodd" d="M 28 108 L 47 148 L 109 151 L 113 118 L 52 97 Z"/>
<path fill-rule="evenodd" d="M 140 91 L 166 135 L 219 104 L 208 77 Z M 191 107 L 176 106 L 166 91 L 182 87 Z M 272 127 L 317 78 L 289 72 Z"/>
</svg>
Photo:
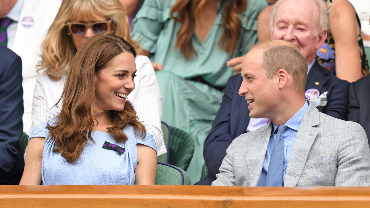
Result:
<svg viewBox="0 0 370 208">
<path fill-rule="evenodd" d="M 6 17 L 12 21 L 7 28 L 7 47 L 22 59 L 23 132 L 31 127 L 32 95 L 36 82 L 37 62 L 41 60 L 41 43 L 58 13 L 61 0 L 17 0 Z M 22 19 L 32 19 L 32 24 L 22 24 Z"/>
</svg>

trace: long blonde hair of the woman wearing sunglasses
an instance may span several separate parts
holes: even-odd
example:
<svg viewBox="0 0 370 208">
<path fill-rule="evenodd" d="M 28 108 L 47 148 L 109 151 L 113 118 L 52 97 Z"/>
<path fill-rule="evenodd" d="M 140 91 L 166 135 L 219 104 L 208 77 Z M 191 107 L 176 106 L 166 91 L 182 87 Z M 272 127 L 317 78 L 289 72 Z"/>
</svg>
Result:
<svg viewBox="0 0 370 208">
<path fill-rule="evenodd" d="M 53 24 L 41 45 L 42 60 L 37 72 L 45 71 L 51 79 L 60 79 L 68 74 L 68 64 L 75 55 L 71 35 L 68 35 L 67 21 L 91 21 L 98 17 L 112 20 L 112 34 L 124 38 L 135 47 L 138 54 L 141 46 L 131 39 L 126 11 L 118 0 L 63 0 Z"/>
</svg>

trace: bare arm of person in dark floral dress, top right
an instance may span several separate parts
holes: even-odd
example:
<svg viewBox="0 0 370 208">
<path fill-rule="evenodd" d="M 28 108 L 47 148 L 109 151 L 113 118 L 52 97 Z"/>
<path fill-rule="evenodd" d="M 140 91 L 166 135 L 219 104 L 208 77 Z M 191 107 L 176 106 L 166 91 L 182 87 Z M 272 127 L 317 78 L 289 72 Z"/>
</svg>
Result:
<svg viewBox="0 0 370 208">
<path fill-rule="evenodd" d="M 346 0 L 333 2 L 329 12 L 329 28 L 335 42 L 336 76 L 349 82 L 361 78 L 361 56 L 357 36 L 356 11 Z"/>
</svg>

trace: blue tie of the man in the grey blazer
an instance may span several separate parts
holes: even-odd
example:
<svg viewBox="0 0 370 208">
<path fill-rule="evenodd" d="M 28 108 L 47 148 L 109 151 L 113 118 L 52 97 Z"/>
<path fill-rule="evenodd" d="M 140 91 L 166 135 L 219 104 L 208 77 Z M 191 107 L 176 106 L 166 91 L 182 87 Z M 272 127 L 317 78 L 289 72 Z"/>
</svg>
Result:
<svg viewBox="0 0 370 208">
<path fill-rule="evenodd" d="M 287 126 L 281 125 L 277 128 L 274 146 L 272 148 L 269 168 L 266 175 L 266 186 L 283 186 L 284 171 L 284 139 L 283 132 Z"/>
</svg>

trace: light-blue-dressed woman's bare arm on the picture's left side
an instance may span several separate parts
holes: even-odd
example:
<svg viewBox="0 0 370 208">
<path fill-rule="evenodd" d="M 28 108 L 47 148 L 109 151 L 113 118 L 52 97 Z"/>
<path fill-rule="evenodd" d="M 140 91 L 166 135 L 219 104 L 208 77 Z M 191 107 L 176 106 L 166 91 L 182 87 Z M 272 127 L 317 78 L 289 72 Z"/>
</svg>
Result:
<svg viewBox="0 0 370 208">
<path fill-rule="evenodd" d="M 28 141 L 24 171 L 19 185 L 40 185 L 44 141 L 44 137 L 33 137 Z"/>
</svg>

